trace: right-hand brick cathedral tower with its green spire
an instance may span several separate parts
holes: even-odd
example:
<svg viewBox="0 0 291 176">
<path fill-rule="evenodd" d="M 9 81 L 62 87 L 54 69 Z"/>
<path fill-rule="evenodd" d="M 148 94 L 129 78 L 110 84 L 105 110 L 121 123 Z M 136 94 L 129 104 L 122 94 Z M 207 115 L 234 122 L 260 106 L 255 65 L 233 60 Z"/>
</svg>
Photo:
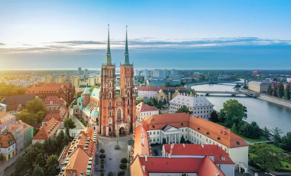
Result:
<svg viewBox="0 0 291 176">
<path fill-rule="evenodd" d="M 126 26 L 125 52 L 123 64 L 120 64 L 120 96 L 124 99 L 126 122 L 129 130 L 135 129 L 135 87 L 133 64 L 129 63 L 129 48 Z"/>
</svg>

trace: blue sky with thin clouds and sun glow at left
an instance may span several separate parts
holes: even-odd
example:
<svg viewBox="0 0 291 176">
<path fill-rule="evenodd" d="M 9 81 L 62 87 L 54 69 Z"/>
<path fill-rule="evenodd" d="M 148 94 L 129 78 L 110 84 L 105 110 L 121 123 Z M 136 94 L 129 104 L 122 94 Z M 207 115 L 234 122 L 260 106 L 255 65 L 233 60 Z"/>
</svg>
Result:
<svg viewBox="0 0 291 176">
<path fill-rule="evenodd" d="M 2 0 L 0 69 L 291 69 L 290 0 Z"/>
</svg>

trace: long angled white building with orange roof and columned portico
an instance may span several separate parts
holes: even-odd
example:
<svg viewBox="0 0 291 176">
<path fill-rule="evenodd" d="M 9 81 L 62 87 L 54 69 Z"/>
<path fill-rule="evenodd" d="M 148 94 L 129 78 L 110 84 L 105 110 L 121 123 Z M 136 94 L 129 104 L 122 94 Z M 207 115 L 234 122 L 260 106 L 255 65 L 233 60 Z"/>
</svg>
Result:
<svg viewBox="0 0 291 176">
<path fill-rule="evenodd" d="M 229 154 L 236 164 L 235 169 L 247 170 L 248 144 L 229 129 L 187 113 L 158 114 L 142 120 L 142 127 L 149 134 L 149 143 L 166 144 L 180 143 L 183 136 L 185 141 L 193 144 L 213 144 Z"/>
</svg>

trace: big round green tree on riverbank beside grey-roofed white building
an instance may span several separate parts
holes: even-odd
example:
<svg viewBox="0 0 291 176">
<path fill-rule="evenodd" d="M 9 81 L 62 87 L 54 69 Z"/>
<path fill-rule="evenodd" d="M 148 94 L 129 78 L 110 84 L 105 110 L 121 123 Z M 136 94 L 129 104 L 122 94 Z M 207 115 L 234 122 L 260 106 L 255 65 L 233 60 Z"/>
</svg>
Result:
<svg viewBox="0 0 291 176">
<path fill-rule="evenodd" d="M 231 127 L 233 123 L 238 125 L 243 119 L 247 118 L 246 107 L 239 103 L 236 99 L 229 99 L 223 103 L 223 108 L 220 110 L 218 119 L 226 122 L 228 127 Z"/>
</svg>

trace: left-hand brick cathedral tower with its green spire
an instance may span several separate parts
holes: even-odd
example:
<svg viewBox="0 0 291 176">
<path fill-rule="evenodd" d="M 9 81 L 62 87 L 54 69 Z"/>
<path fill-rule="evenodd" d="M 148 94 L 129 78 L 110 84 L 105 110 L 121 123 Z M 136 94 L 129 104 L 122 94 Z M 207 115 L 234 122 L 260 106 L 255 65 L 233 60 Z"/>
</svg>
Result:
<svg viewBox="0 0 291 176">
<path fill-rule="evenodd" d="M 99 107 L 99 131 L 102 136 L 113 132 L 115 106 L 115 64 L 111 61 L 109 25 L 105 64 L 101 68 L 101 93 Z"/>
</svg>

